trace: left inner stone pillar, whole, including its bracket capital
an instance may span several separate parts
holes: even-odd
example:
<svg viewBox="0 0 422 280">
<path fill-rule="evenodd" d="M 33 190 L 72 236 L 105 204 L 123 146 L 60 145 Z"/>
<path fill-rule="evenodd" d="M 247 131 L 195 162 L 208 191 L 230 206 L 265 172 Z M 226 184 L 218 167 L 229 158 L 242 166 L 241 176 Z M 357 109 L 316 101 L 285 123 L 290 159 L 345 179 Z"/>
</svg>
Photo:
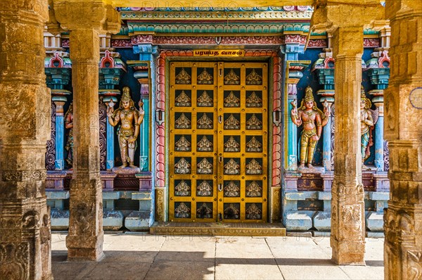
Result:
<svg viewBox="0 0 422 280">
<path fill-rule="evenodd" d="M 70 31 L 74 160 L 70 186 L 68 260 L 103 257 L 103 196 L 98 122 L 99 34 L 109 23 L 120 29 L 117 11 L 103 1 L 55 1 L 54 14 Z M 83 16 L 82 16 L 83 15 Z M 109 22 L 108 20 L 111 20 Z M 52 20 L 51 20 L 52 21 Z"/>
</svg>

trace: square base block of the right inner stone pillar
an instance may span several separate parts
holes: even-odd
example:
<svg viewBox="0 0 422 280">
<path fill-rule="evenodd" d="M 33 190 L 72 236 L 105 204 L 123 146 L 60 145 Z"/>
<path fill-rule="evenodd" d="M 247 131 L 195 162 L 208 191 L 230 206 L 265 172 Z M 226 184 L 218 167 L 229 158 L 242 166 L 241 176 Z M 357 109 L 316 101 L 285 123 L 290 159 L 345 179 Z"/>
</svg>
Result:
<svg viewBox="0 0 422 280">
<path fill-rule="evenodd" d="M 365 243 L 362 241 L 330 240 L 332 250 L 331 260 L 335 265 L 365 265 Z"/>
</svg>

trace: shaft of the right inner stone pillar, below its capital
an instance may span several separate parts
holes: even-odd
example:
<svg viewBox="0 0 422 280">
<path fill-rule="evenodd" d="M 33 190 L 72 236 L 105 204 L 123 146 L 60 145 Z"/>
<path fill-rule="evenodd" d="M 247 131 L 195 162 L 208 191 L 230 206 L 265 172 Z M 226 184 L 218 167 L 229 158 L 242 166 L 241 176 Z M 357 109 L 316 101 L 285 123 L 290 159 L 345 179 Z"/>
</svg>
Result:
<svg viewBox="0 0 422 280">
<path fill-rule="evenodd" d="M 338 27 L 335 56 L 334 180 L 331 247 L 339 265 L 364 264 L 364 189 L 360 152 L 363 28 Z"/>
</svg>

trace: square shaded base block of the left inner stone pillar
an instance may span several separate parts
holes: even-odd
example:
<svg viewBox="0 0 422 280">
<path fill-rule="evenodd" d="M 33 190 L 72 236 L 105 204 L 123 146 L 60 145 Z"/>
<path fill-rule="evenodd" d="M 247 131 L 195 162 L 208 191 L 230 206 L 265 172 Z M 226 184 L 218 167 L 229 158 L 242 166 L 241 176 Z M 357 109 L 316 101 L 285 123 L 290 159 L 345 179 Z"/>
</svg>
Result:
<svg viewBox="0 0 422 280">
<path fill-rule="evenodd" d="M 103 253 L 104 233 L 98 236 L 66 236 L 68 261 L 91 260 L 99 262 L 105 257 Z M 75 246 L 73 246 L 75 244 Z"/>
</svg>

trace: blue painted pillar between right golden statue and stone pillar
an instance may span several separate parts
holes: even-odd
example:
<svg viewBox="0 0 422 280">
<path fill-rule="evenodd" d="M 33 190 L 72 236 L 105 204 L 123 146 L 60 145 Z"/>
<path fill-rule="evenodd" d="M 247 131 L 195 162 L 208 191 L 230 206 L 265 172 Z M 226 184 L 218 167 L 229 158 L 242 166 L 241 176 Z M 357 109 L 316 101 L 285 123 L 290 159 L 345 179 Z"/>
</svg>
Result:
<svg viewBox="0 0 422 280">
<path fill-rule="evenodd" d="M 330 40 L 328 40 L 328 42 L 330 42 Z M 319 84 L 324 87 L 324 89 L 316 91 L 316 94 L 321 96 L 321 103 L 328 103 L 328 108 L 331 108 L 334 103 L 334 59 L 331 56 L 332 53 L 330 49 L 326 49 L 325 53 L 320 53 L 319 59 L 315 61 L 314 65 L 312 65 L 311 70 L 316 73 Z M 333 170 L 333 164 L 331 161 L 331 135 L 333 134 L 332 121 L 333 115 L 330 113 L 328 123 L 322 130 L 322 160 L 324 170 L 326 171 Z"/>
</svg>

